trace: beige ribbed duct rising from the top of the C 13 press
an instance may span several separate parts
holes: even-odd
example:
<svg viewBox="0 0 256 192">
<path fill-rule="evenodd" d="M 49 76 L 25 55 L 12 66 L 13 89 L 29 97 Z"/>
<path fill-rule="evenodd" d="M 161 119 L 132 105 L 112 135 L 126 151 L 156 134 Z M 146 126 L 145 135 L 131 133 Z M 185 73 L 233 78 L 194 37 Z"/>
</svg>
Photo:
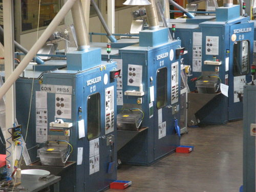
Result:
<svg viewBox="0 0 256 192">
<path fill-rule="evenodd" d="M 90 1 L 90 0 L 86 0 Z M 90 5 L 90 4 L 89 4 Z M 86 27 L 86 20 L 84 19 L 82 2 L 77 0 L 71 9 L 74 28 L 77 38 L 77 49 L 85 50 L 90 48 L 89 34 Z"/>
</svg>

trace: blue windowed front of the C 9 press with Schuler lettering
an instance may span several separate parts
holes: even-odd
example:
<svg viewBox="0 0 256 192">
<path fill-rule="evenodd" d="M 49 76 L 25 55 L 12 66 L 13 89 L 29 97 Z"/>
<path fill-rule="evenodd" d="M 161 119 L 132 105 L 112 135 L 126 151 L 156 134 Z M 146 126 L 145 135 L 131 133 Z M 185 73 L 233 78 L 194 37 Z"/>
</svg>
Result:
<svg viewBox="0 0 256 192">
<path fill-rule="evenodd" d="M 243 117 L 243 87 L 251 81 L 253 31 L 253 23 L 230 26 L 228 120 Z"/>
</svg>

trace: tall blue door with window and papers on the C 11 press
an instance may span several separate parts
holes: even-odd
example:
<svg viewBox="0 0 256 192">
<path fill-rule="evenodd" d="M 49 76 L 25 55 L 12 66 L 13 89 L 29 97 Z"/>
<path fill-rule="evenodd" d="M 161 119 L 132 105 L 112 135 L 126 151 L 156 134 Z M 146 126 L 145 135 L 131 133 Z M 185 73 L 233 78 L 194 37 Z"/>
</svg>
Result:
<svg viewBox="0 0 256 192">
<path fill-rule="evenodd" d="M 170 107 L 168 59 L 167 57 L 156 60 L 154 65 L 154 160 L 170 151 L 170 141 L 172 140 L 170 138 L 172 134 L 172 108 Z"/>
</svg>

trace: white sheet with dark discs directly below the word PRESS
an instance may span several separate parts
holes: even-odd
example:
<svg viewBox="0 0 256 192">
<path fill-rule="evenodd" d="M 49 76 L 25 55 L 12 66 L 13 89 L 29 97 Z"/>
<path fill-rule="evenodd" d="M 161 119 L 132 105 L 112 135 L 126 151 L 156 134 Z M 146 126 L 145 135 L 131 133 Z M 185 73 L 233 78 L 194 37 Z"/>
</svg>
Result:
<svg viewBox="0 0 256 192">
<path fill-rule="evenodd" d="M 71 119 L 72 95 L 55 94 L 55 116 L 56 118 Z"/>
</svg>

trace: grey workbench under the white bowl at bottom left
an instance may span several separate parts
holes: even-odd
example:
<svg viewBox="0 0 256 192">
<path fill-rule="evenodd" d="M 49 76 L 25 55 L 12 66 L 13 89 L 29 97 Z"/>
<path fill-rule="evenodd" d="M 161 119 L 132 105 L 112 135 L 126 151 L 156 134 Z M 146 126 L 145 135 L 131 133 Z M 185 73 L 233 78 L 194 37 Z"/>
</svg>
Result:
<svg viewBox="0 0 256 192">
<path fill-rule="evenodd" d="M 54 192 L 59 192 L 59 176 L 54 176 L 47 181 L 39 181 L 41 175 L 27 175 L 22 174 L 22 184 L 18 185 L 19 187 L 27 188 L 28 190 L 23 190 L 24 192 L 37 192 L 41 189 L 53 185 Z"/>
</svg>

